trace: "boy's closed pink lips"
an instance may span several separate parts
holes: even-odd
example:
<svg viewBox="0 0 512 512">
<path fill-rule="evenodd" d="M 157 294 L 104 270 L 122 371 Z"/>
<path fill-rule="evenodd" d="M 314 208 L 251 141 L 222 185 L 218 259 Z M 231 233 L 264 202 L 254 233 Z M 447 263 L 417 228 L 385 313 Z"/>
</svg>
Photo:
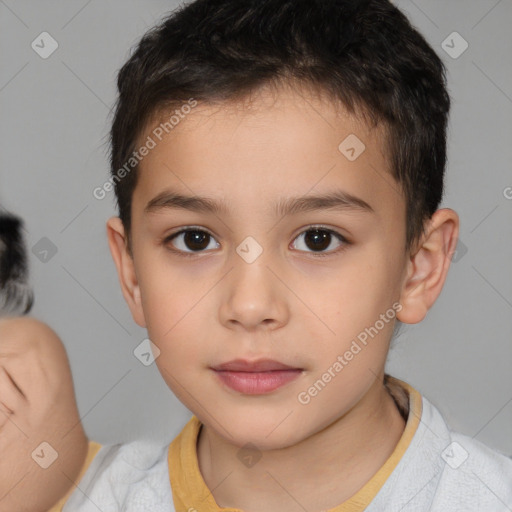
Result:
<svg viewBox="0 0 512 512">
<path fill-rule="evenodd" d="M 236 359 L 212 367 L 212 370 L 229 388 L 246 395 L 260 395 L 270 393 L 295 380 L 304 369 L 294 368 L 272 359 Z"/>
</svg>

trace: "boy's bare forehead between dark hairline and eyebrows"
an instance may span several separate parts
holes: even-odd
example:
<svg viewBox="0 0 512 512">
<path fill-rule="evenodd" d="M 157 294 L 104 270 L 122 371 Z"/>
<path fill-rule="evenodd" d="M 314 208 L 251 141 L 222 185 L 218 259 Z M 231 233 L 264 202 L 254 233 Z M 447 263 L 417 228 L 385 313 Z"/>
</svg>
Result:
<svg viewBox="0 0 512 512">
<path fill-rule="evenodd" d="M 401 200 L 383 129 L 325 97 L 262 89 L 236 102 L 198 103 L 163 130 L 175 110 L 160 112 L 140 139 L 155 142 L 139 165 L 140 208 L 169 188 L 222 198 L 233 212 L 333 188 L 376 209 Z"/>
</svg>

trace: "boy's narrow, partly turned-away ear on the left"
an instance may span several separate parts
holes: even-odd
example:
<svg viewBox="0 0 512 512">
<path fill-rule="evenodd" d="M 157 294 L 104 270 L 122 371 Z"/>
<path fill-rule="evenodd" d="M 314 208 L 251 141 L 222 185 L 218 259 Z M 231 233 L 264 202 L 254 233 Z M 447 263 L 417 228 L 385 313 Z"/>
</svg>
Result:
<svg viewBox="0 0 512 512">
<path fill-rule="evenodd" d="M 112 217 L 107 221 L 107 238 L 110 253 L 117 268 L 121 290 L 133 320 L 141 327 L 146 327 L 135 266 L 128 251 L 124 226 L 119 217 Z"/>
</svg>

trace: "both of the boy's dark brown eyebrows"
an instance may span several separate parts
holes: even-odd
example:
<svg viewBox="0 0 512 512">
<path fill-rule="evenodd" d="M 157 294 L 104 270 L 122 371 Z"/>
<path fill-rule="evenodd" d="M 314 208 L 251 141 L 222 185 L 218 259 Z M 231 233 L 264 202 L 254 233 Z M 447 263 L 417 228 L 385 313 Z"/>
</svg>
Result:
<svg viewBox="0 0 512 512">
<path fill-rule="evenodd" d="M 164 191 L 151 199 L 144 213 L 154 213 L 163 209 L 183 209 L 199 213 L 229 214 L 228 204 L 209 197 L 185 196 L 173 191 Z M 280 199 L 273 205 L 276 216 L 294 215 L 317 210 L 337 210 L 375 213 L 363 199 L 343 190 L 334 190 L 321 195 L 308 195 Z"/>
</svg>

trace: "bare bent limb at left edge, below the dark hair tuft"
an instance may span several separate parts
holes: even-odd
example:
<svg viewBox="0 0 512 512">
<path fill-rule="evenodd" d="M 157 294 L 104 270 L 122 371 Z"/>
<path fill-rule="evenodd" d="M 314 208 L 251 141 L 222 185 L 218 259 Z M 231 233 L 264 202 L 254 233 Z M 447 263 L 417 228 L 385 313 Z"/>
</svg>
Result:
<svg viewBox="0 0 512 512">
<path fill-rule="evenodd" d="M 43 442 L 58 454 L 45 469 L 32 457 L 48 460 Z M 49 510 L 74 487 L 87 447 L 57 334 L 33 318 L 0 319 L 0 512 Z"/>
</svg>

